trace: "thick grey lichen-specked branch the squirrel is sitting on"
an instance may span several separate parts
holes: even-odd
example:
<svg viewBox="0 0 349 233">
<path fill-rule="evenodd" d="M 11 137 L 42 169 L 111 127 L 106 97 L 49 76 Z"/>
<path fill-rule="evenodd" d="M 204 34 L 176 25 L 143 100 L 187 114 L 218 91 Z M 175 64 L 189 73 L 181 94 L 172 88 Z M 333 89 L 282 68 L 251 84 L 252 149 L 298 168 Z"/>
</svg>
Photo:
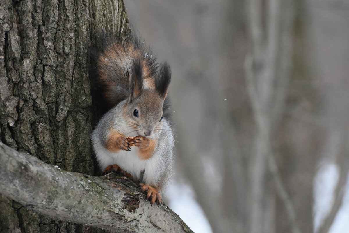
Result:
<svg viewBox="0 0 349 233">
<path fill-rule="evenodd" d="M 0 176 L 1 194 L 53 219 L 111 232 L 192 232 L 165 204 L 150 206 L 121 175 L 67 172 L 0 143 Z"/>
</svg>

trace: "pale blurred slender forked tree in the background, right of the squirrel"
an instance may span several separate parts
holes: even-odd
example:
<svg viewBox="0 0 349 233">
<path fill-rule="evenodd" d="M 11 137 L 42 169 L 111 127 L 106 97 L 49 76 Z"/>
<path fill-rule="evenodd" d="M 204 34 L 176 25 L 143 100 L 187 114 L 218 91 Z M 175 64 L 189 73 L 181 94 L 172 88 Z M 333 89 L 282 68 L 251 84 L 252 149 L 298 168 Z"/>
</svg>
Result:
<svg viewBox="0 0 349 233">
<path fill-rule="evenodd" d="M 290 39 L 291 33 L 291 17 L 283 16 L 285 19 L 282 23 L 281 7 L 282 2 L 279 0 L 266 1 L 267 5 L 267 20 L 265 26 L 265 32 L 263 32 L 263 26 L 261 22 L 263 20 L 262 12 L 265 11 L 262 6 L 262 1 L 249 1 L 249 28 L 251 30 L 252 38 L 252 52 L 247 54 L 245 60 L 245 80 L 247 92 L 251 100 L 253 117 L 257 126 L 257 148 L 262 153 L 256 153 L 253 156 L 253 179 L 258 181 L 258 176 L 264 175 L 262 169 L 264 169 L 263 160 L 268 162 L 269 172 L 272 174 L 272 178 L 275 184 L 275 190 L 281 198 L 285 211 L 288 215 L 291 223 L 291 229 L 293 233 L 299 233 L 300 229 L 296 222 L 296 211 L 291 201 L 291 198 L 282 182 L 279 168 L 277 167 L 273 148 L 271 146 L 270 138 L 277 123 L 280 121 L 280 113 L 284 108 L 285 96 L 287 94 L 287 82 L 289 77 L 289 62 L 291 58 L 290 51 Z M 287 14 L 291 11 L 292 6 L 289 5 Z M 258 17 L 256 17 L 257 15 Z M 286 27 L 284 31 L 280 30 L 281 27 Z M 282 47 L 280 48 L 280 44 Z M 285 47 L 285 48 L 284 48 Z M 278 53 L 284 52 L 285 56 L 281 61 L 278 61 Z M 281 66 L 281 69 L 278 67 Z M 280 70 L 280 71 L 279 71 Z M 258 158 L 259 156 L 259 158 Z M 255 168 L 259 168 L 259 172 Z M 257 172 L 256 172 L 257 170 Z M 257 179 L 255 179 L 257 178 Z M 253 189 L 262 189 L 260 181 L 259 186 L 252 183 Z M 252 211 L 256 209 L 260 211 L 260 195 L 261 190 L 254 192 Z M 259 202 L 259 203 L 258 203 Z M 253 209 L 254 208 L 254 209 Z M 265 213 L 259 212 L 259 215 Z M 252 215 L 253 216 L 253 215 Z M 256 216 L 256 215 L 255 215 Z M 259 232 L 262 218 L 260 216 L 252 219 L 251 232 Z M 258 219 L 259 218 L 259 221 Z"/>
</svg>

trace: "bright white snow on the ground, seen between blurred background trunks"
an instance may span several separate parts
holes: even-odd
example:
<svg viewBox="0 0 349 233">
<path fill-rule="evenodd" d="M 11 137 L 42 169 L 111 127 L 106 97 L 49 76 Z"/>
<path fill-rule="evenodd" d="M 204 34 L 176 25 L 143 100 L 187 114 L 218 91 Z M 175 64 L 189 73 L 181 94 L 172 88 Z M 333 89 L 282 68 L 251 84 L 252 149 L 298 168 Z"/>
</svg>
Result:
<svg viewBox="0 0 349 233">
<path fill-rule="evenodd" d="M 334 189 L 338 182 L 338 167 L 334 164 L 321 166 L 314 179 L 314 230 L 331 210 L 334 202 Z M 347 233 L 349 229 L 349 174 L 343 204 L 334 219 L 329 233 Z M 169 207 L 194 231 L 212 233 L 201 206 L 195 199 L 195 192 L 188 184 L 173 182 L 165 195 Z"/>
</svg>

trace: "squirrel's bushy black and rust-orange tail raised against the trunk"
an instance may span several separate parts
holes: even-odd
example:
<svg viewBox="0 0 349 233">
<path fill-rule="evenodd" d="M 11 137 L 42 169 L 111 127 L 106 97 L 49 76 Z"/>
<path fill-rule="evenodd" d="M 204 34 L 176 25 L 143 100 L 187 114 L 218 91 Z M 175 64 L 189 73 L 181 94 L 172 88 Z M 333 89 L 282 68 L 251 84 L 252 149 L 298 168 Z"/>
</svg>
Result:
<svg viewBox="0 0 349 233">
<path fill-rule="evenodd" d="M 102 52 L 96 54 L 96 74 L 109 107 L 117 105 L 129 96 L 130 77 L 134 69 L 142 68 L 143 80 L 154 80 L 158 65 L 151 48 L 135 35 L 121 42 L 108 39 Z"/>
</svg>

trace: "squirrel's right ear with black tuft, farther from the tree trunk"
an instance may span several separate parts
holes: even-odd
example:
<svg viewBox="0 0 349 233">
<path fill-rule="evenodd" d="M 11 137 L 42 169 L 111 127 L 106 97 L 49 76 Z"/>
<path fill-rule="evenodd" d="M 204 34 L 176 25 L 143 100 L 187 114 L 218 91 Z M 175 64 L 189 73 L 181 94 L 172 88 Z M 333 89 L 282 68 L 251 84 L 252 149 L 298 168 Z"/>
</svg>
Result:
<svg viewBox="0 0 349 233">
<path fill-rule="evenodd" d="M 160 64 L 159 73 L 155 79 L 155 89 L 164 99 L 167 96 L 167 90 L 171 82 L 171 68 L 166 63 Z"/>
</svg>

